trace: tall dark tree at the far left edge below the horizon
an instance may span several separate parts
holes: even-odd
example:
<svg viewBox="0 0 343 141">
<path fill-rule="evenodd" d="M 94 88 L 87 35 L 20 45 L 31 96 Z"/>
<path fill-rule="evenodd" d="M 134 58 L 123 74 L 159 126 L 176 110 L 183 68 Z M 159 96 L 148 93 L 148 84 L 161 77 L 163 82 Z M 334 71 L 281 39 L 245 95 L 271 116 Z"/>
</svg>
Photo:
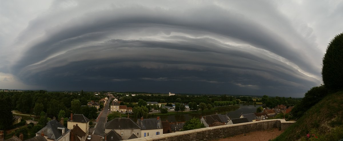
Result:
<svg viewBox="0 0 343 141">
<path fill-rule="evenodd" d="M 13 123 L 11 104 L 8 101 L 11 101 L 11 99 L 0 99 L 0 130 L 5 130 L 11 127 Z"/>
</svg>

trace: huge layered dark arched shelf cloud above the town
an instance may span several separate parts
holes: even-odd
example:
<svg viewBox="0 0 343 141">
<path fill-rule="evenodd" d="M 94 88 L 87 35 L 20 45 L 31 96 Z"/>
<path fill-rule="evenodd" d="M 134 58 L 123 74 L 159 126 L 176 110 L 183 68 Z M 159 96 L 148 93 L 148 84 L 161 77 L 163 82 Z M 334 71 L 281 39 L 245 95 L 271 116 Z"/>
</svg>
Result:
<svg viewBox="0 0 343 141">
<path fill-rule="evenodd" d="M 86 12 L 78 4 L 29 23 L 17 38 L 25 52 L 10 67 L 15 76 L 48 90 L 292 97 L 320 84 L 322 53 L 272 7 L 254 18 L 215 4 Z"/>
</svg>

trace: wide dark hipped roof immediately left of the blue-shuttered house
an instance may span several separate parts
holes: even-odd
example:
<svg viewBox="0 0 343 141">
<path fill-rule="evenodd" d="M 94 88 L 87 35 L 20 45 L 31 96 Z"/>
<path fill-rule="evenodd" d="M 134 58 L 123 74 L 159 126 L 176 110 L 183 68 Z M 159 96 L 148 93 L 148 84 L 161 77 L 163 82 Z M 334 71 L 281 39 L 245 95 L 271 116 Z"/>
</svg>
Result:
<svg viewBox="0 0 343 141">
<path fill-rule="evenodd" d="M 105 129 L 141 129 L 130 118 L 115 118 L 105 124 Z"/>
</svg>

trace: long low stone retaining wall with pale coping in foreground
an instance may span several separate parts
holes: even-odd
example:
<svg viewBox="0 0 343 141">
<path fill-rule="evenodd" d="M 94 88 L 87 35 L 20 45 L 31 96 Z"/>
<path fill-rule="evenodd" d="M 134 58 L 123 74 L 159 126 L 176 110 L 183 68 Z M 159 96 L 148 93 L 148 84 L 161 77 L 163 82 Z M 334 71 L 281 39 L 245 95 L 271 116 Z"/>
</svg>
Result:
<svg viewBox="0 0 343 141">
<path fill-rule="evenodd" d="M 285 121 L 284 119 L 270 119 L 254 121 L 249 123 L 222 125 L 215 127 L 207 127 L 175 133 L 161 134 L 157 136 L 149 136 L 126 141 L 205 141 L 215 140 L 244 134 L 254 131 L 262 131 L 267 129 L 288 128 L 295 121 Z"/>
</svg>

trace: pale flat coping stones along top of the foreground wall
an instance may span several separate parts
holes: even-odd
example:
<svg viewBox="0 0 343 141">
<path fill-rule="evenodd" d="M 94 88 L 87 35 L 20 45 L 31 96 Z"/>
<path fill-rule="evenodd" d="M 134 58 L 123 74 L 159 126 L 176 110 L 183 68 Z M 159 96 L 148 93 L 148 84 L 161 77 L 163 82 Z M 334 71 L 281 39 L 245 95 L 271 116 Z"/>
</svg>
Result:
<svg viewBox="0 0 343 141">
<path fill-rule="evenodd" d="M 190 133 L 198 133 L 198 132 L 214 130 L 214 129 L 222 129 L 222 128 L 227 128 L 227 127 L 251 125 L 251 124 L 258 124 L 258 123 L 264 123 L 264 122 L 274 122 L 274 121 L 280 121 L 281 124 L 293 124 L 296 122 L 296 121 L 286 121 L 285 119 L 268 119 L 268 120 L 253 121 L 253 122 L 248 122 L 248 123 L 205 127 L 205 128 L 200 128 L 200 129 L 193 129 L 193 130 L 180 131 L 180 132 L 174 132 L 174 133 L 160 134 L 160 135 L 156 135 L 156 136 L 141 137 L 141 138 L 130 139 L 130 140 L 126 140 L 126 141 L 154 141 L 154 140 L 159 140 L 159 139 L 172 138 L 175 136 L 182 136 L 182 135 L 190 134 Z"/>
</svg>

